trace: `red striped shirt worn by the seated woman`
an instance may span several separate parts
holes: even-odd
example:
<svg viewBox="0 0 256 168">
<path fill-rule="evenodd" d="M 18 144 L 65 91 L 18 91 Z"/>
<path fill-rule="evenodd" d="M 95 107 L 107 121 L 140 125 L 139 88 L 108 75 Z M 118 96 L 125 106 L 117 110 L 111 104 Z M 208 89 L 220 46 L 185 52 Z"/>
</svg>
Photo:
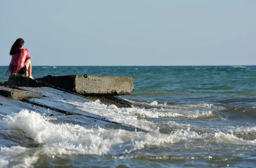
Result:
<svg viewBox="0 0 256 168">
<path fill-rule="evenodd" d="M 6 72 L 6 76 L 10 76 L 11 73 L 19 72 L 19 70 L 25 66 L 24 62 L 30 58 L 29 49 L 17 48 L 16 53 L 12 55 L 12 60 L 8 71 Z"/>
</svg>

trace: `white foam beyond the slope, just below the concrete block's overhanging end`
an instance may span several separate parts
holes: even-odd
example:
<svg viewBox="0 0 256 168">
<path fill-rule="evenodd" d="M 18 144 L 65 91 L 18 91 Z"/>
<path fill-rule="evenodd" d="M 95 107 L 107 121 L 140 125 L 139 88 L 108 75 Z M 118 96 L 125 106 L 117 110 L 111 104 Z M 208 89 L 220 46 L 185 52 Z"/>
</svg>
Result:
<svg viewBox="0 0 256 168">
<path fill-rule="evenodd" d="M 214 114 L 210 110 L 187 110 L 184 108 L 118 108 L 115 105 L 106 105 L 101 104 L 99 100 L 92 102 L 68 102 L 66 103 L 76 105 L 80 110 L 84 110 L 89 113 L 93 113 L 99 116 L 104 116 L 114 122 L 119 122 L 126 125 L 132 125 L 134 127 L 139 127 L 143 130 L 153 131 L 157 129 L 156 125 L 148 120 L 143 118 L 175 118 L 175 117 L 184 117 L 184 118 L 201 118 L 209 117 Z M 158 105 L 157 101 L 151 102 L 151 104 Z M 162 104 L 166 106 L 166 104 Z M 167 105 L 169 106 L 169 105 Z"/>
</svg>

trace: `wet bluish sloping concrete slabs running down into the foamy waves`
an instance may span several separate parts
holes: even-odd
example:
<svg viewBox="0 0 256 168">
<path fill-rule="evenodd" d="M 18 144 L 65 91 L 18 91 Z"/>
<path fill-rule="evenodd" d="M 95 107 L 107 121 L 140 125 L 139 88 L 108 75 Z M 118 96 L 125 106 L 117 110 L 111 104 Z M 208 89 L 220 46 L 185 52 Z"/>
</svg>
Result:
<svg viewBox="0 0 256 168">
<path fill-rule="evenodd" d="M 11 88 L 9 89 L 12 90 Z M 97 125 L 99 127 L 111 129 L 146 132 L 145 130 L 141 130 L 140 128 L 131 125 L 123 125 L 112 121 L 111 118 L 87 112 L 87 110 L 82 110 L 81 108 L 78 108 L 76 104 L 72 103 L 85 103 L 91 101 L 88 98 L 84 98 L 84 96 L 71 94 L 50 87 L 19 87 L 19 89 L 19 91 L 26 90 L 27 92 L 41 93 L 44 96 L 41 98 L 23 99 L 22 101 L 18 101 L 0 95 L 0 119 L 3 120 L 3 118 L 6 118 L 6 115 L 13 115 L 14 113 L 19 113 L 22 109 L 26 109 L 29 110 L 29 112 L 35 111 L 41 116 L 54 117 L 54 120 L 50 120 L 50 122 L 56 124 L 72 123 L 83 127 Z M 0 147 L 20 145 L 31 148 L 43 145 L 26 137 L 26 133 L 20 129 L 3 129 L 1 126 L 2 125 L 0 125 Z"/>
</svg>

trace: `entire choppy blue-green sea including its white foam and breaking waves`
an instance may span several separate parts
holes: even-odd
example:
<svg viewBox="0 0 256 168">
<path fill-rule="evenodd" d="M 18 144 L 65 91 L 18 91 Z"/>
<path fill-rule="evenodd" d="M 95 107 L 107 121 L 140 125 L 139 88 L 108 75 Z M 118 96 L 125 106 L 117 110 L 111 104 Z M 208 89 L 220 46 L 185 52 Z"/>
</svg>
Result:
<svg viewBox="0 0 256 168">
<path fill-rule="evenodd" d="M 8 80 L 7 69 L 0 67 L 0 82 Z M 256 167 L 256 66 L 32 67 L 34 78 L 84 74 L 134 78 L 133 93 L 120 96 L 133 107 L 99 100 L 67 106 L 137 129 L 61 123 L 11 109 L 0 118 L 2 129 L 17 128 L 42 145 L 1 145 L 0 168 Z"/>
</svg>

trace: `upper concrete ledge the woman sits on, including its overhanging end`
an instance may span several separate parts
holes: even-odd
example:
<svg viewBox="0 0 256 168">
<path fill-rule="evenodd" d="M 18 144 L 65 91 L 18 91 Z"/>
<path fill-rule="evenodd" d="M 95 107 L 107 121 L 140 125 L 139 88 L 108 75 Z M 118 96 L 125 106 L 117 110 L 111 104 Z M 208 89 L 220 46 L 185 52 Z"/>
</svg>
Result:
<svg viewBox="0 0 256 168">
<path fill-rule="evenodd" d="M 93 78 L 93 77 L 95 76 L 85 77 L 81 75 L 67 75 L 67 76 L 48 75 L 48 76 L 45 76 L 44 78 L 37 78 L 33 80 L 26 76 L 13 73 L 9 77 L 8 81 L 4 82 L 4 85 L 9 87 L 51 87 L 54 89 L 65 91 L 65 92 L 85 96 L 86 98 L 89 98 L 91 100 L 99 99 L 100 101 L 102 101 L 102 103 L 114 104 L 117 107 L 132 107 L 131 102 L 126 101 L 120 98 L 119 96 L 114 96 L 116 94 L 113 94 L 113 93 L 119 93 L 119 94 L 129 93 L 130 94 L 134 90 L 133 78 L 108 77 L 108 76 L 104 76 L 104 78 L 102 78 L 102 76 L 99 76 L 99 79 L 102 79 L 102 80 L 96 80 L 96 78 Z M 109 80 L 107 80 L 107 78 Z M 116 82 L 114 81 L 115 79 L 117 80 Z M 86 81 L 89 81 L 89 80 L 91 80 L 92 82 L 90 81 L 90 84 L 87 84 Z M 104 81 L 108 81 L 107 86 L 111 85 L 110 84 L 111 82 L 112 84 L 115 83 L 116 88 L 112 86 L 109 89 L 107 86 L 104 86 Z M 128 86 L 125 86 L 125 84 L 128 84 Z M 83 88 L 84 90 L 82 90 Z M 94 92 L 91 90 L 94 90 Z"/>
</svg>

